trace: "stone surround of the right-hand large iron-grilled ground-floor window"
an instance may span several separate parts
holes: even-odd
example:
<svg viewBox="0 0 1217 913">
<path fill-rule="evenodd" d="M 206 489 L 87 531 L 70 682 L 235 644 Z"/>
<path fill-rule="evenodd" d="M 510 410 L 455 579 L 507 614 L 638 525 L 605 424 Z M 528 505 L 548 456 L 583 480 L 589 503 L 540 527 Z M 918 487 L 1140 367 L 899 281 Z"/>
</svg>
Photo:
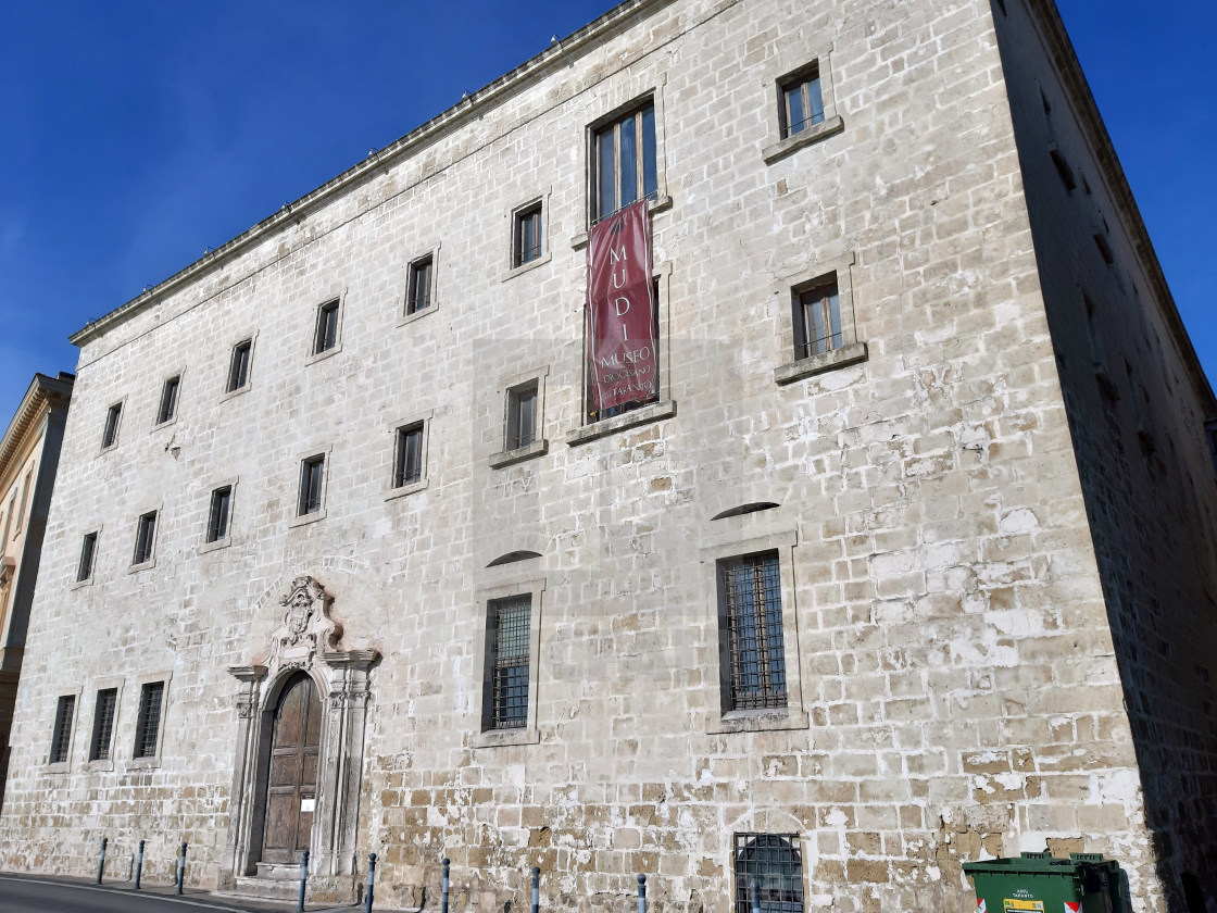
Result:
<svg viewBox="0 0 1217 913">
<path fill-rule="evenodd" d="M 774 732 L 780 729 L 807 729 L 811 716 L 803 704 L 801 646 L 798 637 L 798 604 L 795 589 L 795 549 L 798 533 L 793 528 L 774 527 L 773 520 L 758 520 L 758 515 L 730 517 L 718 522 L 728 523 L 728 532 L 716 543 L 700 549 L 699 559 L 707 565 L 702 576 L 706 606 L 706 631 L 711 648 L 707 650 L 708 668 L 706 680 L 718 689 L 718 699 L 712 701 L 706 717 L 706 733 L 711 735 L 745 732 Z M 759 710 L 724 710 L 724 694 L 730 676 L 723 668 L 723 604 L 718 590 L 719 562 L 755 555 L 762 551 L 778 553 L 778 571 L 781 586 L 781 627 L 786 665 L 786 706 Z"/>
</svg>

